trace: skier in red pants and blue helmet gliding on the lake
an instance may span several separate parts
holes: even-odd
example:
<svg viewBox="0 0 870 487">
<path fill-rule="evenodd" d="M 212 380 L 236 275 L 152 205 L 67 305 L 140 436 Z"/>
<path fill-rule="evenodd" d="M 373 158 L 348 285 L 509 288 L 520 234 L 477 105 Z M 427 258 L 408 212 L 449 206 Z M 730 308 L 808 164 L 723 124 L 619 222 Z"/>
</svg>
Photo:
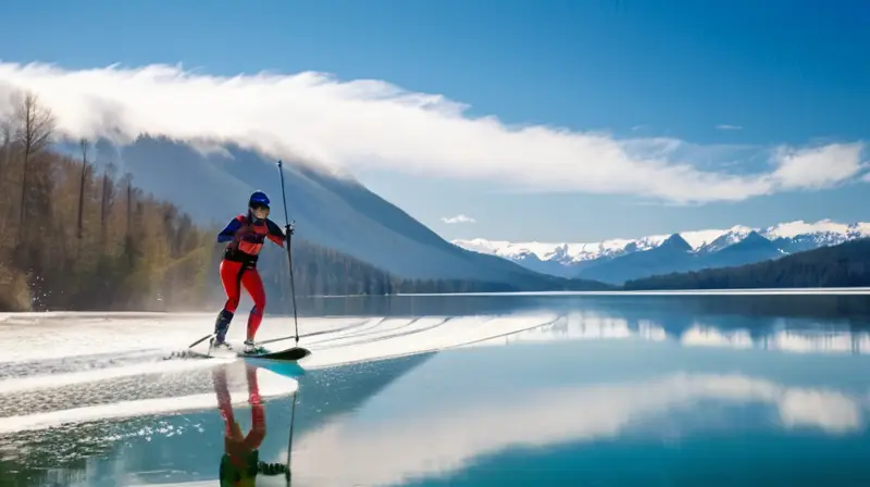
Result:
<svg viewBox="0 0 870 487">
<path fill-rule="evenodd" d="M 257 329 L 263 320 L 263 310 L 265 309 L 265 290 L 263 282 L 260 279 L 260 273 L 257 271 L 257 260 L 266 238 L 275 245 L 284 247 L 288 237 L 293 235 L 290 225 L 287 225 L 285 232 L 282 232 L 275 222 L 269 220 L 269 197 L 263 191 L 254 191 L 248 199 L 247 214 L 236 216 L 226 225 L 226 228 L 217 234 L 219 242 L 227 242 L 220 266 L 226 303 L 217 314 L 214 324 L 215 336 L 212 338 L 214 347 L 229 348 L 229 345 L 226 344 L 226 332 L 229 329 L 229 323 L 238 308 L 244 286 L 253 299 L 253 308 L 248 315 L 245 353 L 262 351 L 254 342 Z"/>
</svg>

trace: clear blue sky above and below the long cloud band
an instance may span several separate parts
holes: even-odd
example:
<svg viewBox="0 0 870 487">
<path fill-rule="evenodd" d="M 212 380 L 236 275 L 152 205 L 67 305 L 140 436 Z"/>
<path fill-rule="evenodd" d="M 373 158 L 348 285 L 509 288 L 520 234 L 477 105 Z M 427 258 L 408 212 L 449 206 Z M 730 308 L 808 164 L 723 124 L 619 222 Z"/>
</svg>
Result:
<svg viewBox="0 0 870 487">
<path fill-rule="evenodd" d="M 732 176 L 770 171 L 778 146 L 870 138 L 870 3 L 860 0 L 34 0 L 4 7 L 3 17 L 4 63 L 182 63 L 208 75 L 320 71 L 380 79 L 465 103 L 465 116 L 680 140 L 671 162 Z M 529 151 L 543 160 L 547 147 L 535 143 Z M 638 147 L 649 153 L 649 143 Z M 866 149 L 858 158 L 870 159 Z M 796 167 L 808 172 L 818 161 Z M 497 170 L 487 179 L 397 167 L 351 172 L 448 239 L 592 241 L 790 220 L 870 221 L 868 186 L 856 182 L 862 173 L 823 185 L 795 184 L 793 172 L 788 184 L 758 196 L 683 204 L 633 196 L 636 183 L 619 177 L 602 179 L 600 191 L 582 182 L 517 190 L 496 180 Z M 440 221 L 457 214 L 475 223 Z"/>
</svg>

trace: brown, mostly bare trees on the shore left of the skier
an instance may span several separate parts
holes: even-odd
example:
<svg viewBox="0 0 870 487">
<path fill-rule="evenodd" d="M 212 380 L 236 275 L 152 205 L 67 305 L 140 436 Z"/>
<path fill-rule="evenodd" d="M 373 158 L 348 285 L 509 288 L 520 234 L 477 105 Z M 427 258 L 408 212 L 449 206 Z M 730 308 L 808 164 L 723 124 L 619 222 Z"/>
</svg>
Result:
<svg viewBox="0 0 870 487">
<path fill-rule="evenodd" d="M 92 148 L 53 150 L 55 118 L 30 93 L 0 121 L 0 310 L 140 309 L 204 296 L 211 237 L 145 195 Z"/>
</svg>

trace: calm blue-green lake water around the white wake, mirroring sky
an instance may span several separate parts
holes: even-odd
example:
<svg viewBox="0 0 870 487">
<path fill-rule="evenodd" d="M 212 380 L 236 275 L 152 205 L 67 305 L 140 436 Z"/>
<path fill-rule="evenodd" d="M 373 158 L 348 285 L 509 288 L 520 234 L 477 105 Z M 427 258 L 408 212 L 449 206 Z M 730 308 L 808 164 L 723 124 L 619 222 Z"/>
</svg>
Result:
<svg viewBox="0 0 870 487">
<path fill-rule="evenodd" d="M 217 486 L 238 463 L 256 483 L 226 485 L 867 486 L 868 301 L 309 301 L 303 315 L 344 323 L 315 355 L 383 341 L 390 358 L 304 371 L 219 363 L 38 390 L 0 383 L 0 485 Z M 364 316 L 406 322 L 382 333 L 377 320 L 353 322 Z M 417 326 L 423 316 L 442 319 Z M 482 332 L 450 341 L 464 328 L 443 322 L 461 316 L 480 317 L 468 326 Z M 324 339 L 306 323 L 301 345 Z"/>
</svg>

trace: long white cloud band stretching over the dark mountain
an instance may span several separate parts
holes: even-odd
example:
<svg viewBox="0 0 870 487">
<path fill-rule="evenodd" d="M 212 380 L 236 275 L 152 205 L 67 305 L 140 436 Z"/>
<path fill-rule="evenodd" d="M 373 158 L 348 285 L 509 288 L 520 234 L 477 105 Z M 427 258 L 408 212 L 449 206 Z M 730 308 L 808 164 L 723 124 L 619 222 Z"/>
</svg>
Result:
<svg viewBox="0 0 870 487">
<path fill-rule="evenodd" d="M 850 159 L 834 165 L 817 164 L 833 155 L 817 148 L 811 149 L 819 152 L 816 162 L 798 162 L 801 149 L 784 148 L 776 152 L 784 159 L 775 174 L 735 174 L 733 167 L 685 157 L 692 145 L 678 139 L 508 126 L 494 116 L 472 118 L 465 105 L 443 96 L 311 72 L 219 77 L 167 65 L 66 71 L 2 63 L 0 97 L 11 88 L 40 96 L 58 116 L 59 129 L 72 137 L 133 138 L 142 132 L 187 140 L 212 137 L 334 170 L 382 168 L 675 203 L 738 201 L 811 188 L 813 182 L 826 187 L 852 177 L 844 168 L 859 161 L 853 150 L 838 152 Z M 811 166 L 812 176 L 796 174 L 796 164 Z"/>
</svg>

